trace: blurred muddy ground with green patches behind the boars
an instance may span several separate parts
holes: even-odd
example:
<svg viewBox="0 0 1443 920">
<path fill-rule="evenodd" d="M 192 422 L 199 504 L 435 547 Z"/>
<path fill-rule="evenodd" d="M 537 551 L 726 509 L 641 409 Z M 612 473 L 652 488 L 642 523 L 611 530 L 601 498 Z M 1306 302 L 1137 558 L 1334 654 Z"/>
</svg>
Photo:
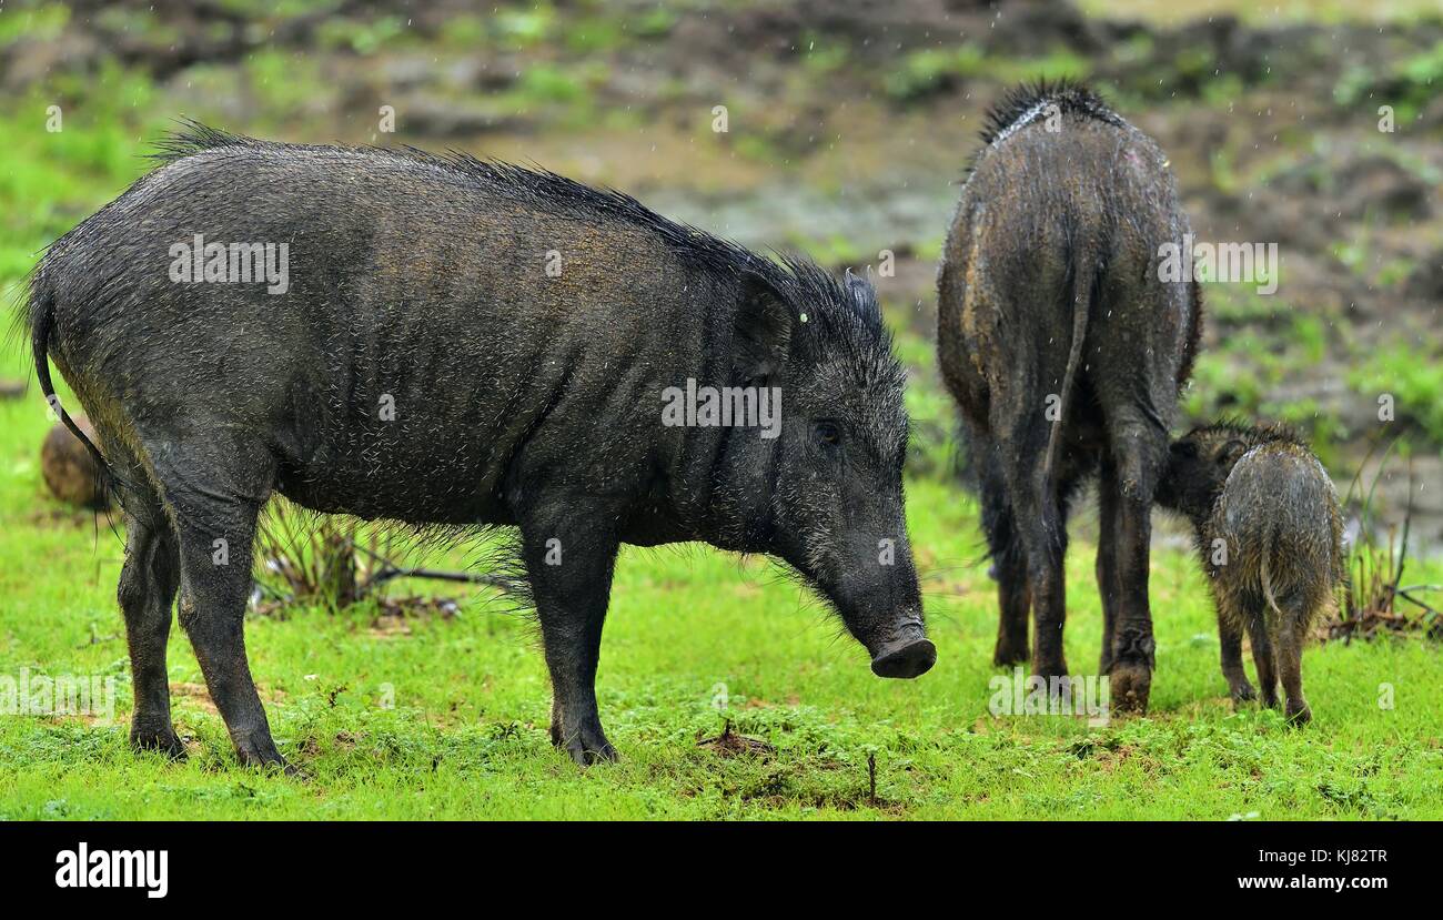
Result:
<svg viewBox="0 0 1443 920">
<path fill-rule="evenodd" d="M 981 112 L 1040 76 L 1091 81 L 1157 138 L 1198 239 L 1278 247 L 1276 294 L 1206 286 L 1185 421 L 1293 423 L 1392 523 L 1411 464 L 1413 539 L 1443 544 L 1436 0 L 0 0 L 0 290 L 182 115 L 538 163 L 879 270 L 912 473 L 949 477 L 965 459 L 932 356 L 935 262 Z"/>
</svg>

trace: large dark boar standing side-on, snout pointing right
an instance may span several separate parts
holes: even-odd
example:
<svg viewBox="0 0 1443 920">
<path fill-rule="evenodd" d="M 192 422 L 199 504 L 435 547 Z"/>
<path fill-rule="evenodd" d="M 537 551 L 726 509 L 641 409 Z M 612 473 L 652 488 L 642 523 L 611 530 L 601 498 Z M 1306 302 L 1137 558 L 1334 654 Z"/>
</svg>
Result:
<svg viewBox="0 0 1443 920">
<path fill-rule="evenodd" d="M 518 528 L 551 738 L 579 763 L 615 757 L 595 678 L 623 542 L 776 555 L 877 675 L 932 666 L 903 521 L 903 373 L 866 281 L 463 154 L 190 125 L 160 159 L 51 247 L 27 314 L 45 394 L 49 356 L 118 482 L 137 746 L 179 750 L 179 590 L 240 758 L 281 763 L 242 639 L 273 492 Z M 779 428 L 662 424 L 662 394 L 688 381 L 776 388 Z"/>
</svg>

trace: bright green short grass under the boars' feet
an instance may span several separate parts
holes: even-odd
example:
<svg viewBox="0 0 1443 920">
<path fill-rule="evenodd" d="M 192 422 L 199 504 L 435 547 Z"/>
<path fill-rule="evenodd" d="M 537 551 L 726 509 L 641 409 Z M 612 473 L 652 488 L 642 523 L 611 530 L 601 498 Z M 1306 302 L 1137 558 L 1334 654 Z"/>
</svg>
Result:
<svg viewBox="0 0 1443 920">
<path fill-rule="evenodd" d="M 13 353 L 3 366 L 23 373 Z M 306 779 L 235 764 L 176 630 L 170 681 L 190 757 L 137 756 L 114 603 L 121 548 L 43 495 L 46 425 L 36 399 L 0 404 L 0 673 L 113 675 L 120 699 L 115 722 L 0 718 L 3 818 L 1443 816 L 1436 650 L 1418 640 L 1313 647 L 1313 725 L 1234 714 L 1198 567 L 1177 551 L 1153 562 L 1159 671 L 1147 718 L 1089 728 L 990 715 L 996 609 L 975 508 L 928 479 L 911 483 L 909 508 L 941 658 L 916 682 L 873 678 L 861 649 L 769 564 L 701 548 L 629 551 L 599 679 L 619 764 L 583 771 L 553 751 L 531 627 L 485 594 L 405 630 L 367 607 L 248 622 L 271 725 Z M 1074 541 L 1076 672 L 1098 652 L 1091 567 L 1091 547 Z M 1395 688 L 1392 709 L 1377 705 L 1382 684 Z M 697 746 L 727 718 L 775 753 L 726 758 Z"/>
</svg>

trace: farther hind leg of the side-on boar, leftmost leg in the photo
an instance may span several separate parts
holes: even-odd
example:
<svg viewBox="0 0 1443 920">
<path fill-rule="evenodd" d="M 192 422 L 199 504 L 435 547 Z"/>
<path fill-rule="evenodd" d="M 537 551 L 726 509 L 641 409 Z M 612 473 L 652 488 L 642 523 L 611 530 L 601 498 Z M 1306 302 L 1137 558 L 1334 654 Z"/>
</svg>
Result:
<svg viewBox="0 0 1443 920">
<path fill-rule="evenodd" d="M 136 483 L 146 482 L 139 466 L 133 466 L 127 476 Z M 185 748 L 170 722 L 170 682 L 166 669 L 170 610 L 180 578 L 179 558 L 160 497 L 144 485 L 141 489 L 143 493 L 128 489 L 121 493 L 126 509 L 126 565 L 115 591 L 126 617 L 126 643 L 130 646 L 130 675 L 136 696 L 130 743 L 141 750 L 182 757 Z"/>
</svg>

